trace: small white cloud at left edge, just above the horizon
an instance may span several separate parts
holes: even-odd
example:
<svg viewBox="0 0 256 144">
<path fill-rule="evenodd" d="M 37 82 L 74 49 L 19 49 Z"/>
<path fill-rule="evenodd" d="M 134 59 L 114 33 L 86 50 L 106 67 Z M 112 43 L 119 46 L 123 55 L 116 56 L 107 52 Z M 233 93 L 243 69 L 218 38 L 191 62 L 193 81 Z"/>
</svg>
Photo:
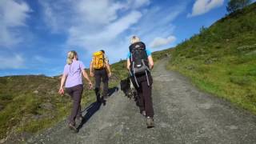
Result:
<svg viewBox="0 0 256 144">
<path fill-rule="evenodd" d="M 14 56 L 0 55 L 0 70 L 4 69 L 19 69 L 25 67 L 25 60 L 21 55 L 15 54 Z"/>
</svg>

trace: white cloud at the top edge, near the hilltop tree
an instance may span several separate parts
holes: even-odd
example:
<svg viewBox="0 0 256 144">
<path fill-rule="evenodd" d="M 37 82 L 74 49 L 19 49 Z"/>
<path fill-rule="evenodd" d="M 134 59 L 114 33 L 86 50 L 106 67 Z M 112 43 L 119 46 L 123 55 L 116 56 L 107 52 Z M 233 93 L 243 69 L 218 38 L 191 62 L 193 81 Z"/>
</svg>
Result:
<svg viewBox="0 0 256 144">
<path fill-rule="evenodd" d="M 192 14 L 188 14 L 188 17 L 206 14 L 210 10 L 222 6 L 223 3 L 224 0 L 196 0 L 196 2 L 194 2 Z"/>
</svg>

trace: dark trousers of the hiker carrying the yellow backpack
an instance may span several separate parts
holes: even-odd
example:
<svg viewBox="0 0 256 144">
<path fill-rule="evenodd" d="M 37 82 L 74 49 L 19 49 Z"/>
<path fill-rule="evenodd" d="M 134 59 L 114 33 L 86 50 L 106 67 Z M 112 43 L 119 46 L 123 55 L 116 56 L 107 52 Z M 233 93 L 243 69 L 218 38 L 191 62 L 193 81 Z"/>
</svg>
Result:
<svg viewBox="0 0 256 144">
<path fill-rule="evenodd" d="M 106 69 L 94 70 L 94 77 L 95 77 L 95 94 L 97 96 L 97 100 L 100 101 L 101 82 L 103 82 L 102 96 L 106 97 L 109 89 L 109 77 L 107 75 Z"/>
</svg>

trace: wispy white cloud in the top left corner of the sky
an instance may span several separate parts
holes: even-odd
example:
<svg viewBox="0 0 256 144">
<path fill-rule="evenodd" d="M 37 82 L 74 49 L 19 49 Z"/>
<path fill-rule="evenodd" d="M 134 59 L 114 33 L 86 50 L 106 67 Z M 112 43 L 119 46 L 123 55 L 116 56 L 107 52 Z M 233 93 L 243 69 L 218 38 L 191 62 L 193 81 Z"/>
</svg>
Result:
<svg viewBox="0 0 256 144">
<path fill-rule="evenodd" d="M 20 26 L 26 26 L 30 7 L 25 2 L 0 1 L 0 46 L 10 47 L 22 42 Z"/>
</svg>

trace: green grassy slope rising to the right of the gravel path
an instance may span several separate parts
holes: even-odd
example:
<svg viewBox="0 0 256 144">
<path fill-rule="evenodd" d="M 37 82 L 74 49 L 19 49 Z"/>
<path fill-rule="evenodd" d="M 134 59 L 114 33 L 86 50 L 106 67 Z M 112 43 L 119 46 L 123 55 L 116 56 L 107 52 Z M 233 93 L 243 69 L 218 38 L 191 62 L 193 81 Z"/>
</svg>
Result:
<svg viewBox="0 0 256 144">
<path fill-rule="evenodd" d="M 169 68 L 256 114 L 256 3 L 179 44 Z"/>
</svg>

